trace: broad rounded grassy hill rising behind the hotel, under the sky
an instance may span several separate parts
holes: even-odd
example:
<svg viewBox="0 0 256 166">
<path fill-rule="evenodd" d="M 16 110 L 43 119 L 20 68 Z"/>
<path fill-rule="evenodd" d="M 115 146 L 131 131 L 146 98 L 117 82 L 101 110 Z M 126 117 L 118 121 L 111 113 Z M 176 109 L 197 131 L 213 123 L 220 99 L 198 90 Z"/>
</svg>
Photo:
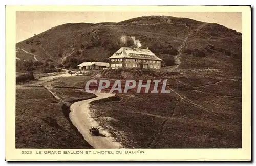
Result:
<svg viewBox="0 0 256 166">
<path fill-rule="evenodd" d="M 67 23 L 19 42 L 16 47 L 33 52 L 42 61 L 50 58 L 55 64 L 66 57 L 78 58 L 81 62 L 106 61 L 121 46 L 127 46 L 120 42 L 122 35 L 134 36 L 143 48 L 149 47 L 164 62 L 173 58 L 173 50 L 179 50 L 186 37 L 180 51 L 201 49 L 206 59 L 211 60 L 211 66 L 230 67 L 233 61 L 238 65 L 241 61 L 241 33 L 219 24 L 169 16 L 145 16 L 119 23 Z M 26 53 L 20 51 L 16 52 L 18 58 L 33 59 L 31 54 L 26 57 Z M 182 53 L 181 58 L 189 63 L 196 57 Z M 189 67 L 205 66 L 205 59 L 196 61 Z"/>
</svg>

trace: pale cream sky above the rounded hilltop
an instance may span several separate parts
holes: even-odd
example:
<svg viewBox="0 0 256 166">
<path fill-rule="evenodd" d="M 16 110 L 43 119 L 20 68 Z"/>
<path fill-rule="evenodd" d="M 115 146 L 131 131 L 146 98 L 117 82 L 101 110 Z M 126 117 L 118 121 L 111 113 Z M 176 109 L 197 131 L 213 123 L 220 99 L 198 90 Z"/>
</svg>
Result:
<svg viewBox="0 0 256 166">
<path fill-rule="evenodd" d="M 65 23 L 120 22 L 152 15 L 184 17 L 218 23 L 242 32 L 241 12 L 16 12 L 16 42 Z"/>
</svg>

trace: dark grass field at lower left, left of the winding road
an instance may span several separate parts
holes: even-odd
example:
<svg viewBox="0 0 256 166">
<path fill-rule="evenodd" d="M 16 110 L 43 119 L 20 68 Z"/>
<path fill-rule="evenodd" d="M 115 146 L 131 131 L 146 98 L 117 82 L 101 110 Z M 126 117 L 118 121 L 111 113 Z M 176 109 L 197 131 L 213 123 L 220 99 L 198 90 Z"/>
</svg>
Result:
<svg viewBox="0 0 256 166">
<path fill-rule="evenodd" d="M 16 88 L 16 148 L 92 148 L 44 87 Z"/>
</svg>

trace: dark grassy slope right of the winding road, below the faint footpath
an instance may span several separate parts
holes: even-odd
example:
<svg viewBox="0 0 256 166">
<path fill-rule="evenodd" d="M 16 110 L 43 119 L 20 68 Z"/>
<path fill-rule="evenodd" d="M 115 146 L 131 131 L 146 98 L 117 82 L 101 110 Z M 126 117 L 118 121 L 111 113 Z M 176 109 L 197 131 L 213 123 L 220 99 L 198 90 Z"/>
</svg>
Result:
<svg viewBox="0 0 256 166">
<path fill-rule="evenodd" d="M 102 126 L 117 135 L 121 131 L 119 137 L 124 135 L 121 141 L 127 145 L 135 148 L 241 147 L 238 108 L 234 109 L 237 114 L 229 112 L 230 119 L 223 119 L 218 111 L 202 110 L 179 102 L 169 94 L 125 94 L 119 98 L 120 101 L 93 103 L 92 109 Z"/>
</svg>

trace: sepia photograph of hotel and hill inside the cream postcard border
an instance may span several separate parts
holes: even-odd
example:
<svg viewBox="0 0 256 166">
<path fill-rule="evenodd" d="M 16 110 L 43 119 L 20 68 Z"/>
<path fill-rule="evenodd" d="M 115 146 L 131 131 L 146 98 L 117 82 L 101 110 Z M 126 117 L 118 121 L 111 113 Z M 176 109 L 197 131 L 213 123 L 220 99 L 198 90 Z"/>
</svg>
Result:
<svg viewBox="0 0 256 166">
<path fill-rule="evenodd" d="M 14 29 L 16 149 L 244 148 L 242 12 L 15 11 Z"/>
</svg>

